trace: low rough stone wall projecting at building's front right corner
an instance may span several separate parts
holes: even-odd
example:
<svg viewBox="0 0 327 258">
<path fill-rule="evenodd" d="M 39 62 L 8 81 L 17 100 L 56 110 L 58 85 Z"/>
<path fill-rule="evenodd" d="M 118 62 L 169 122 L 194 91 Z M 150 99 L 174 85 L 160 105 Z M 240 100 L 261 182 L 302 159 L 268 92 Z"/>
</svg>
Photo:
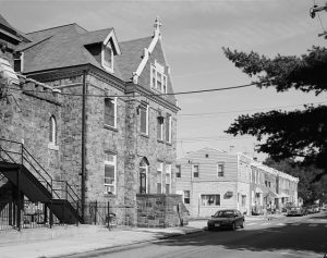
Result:
<svg viewBox="0 0 327 258">
<path fill-rule="evenodd" d="M 167 228 L 187 224 L 181 195 L 137 195 L 137 226 Z"/>
</svg>

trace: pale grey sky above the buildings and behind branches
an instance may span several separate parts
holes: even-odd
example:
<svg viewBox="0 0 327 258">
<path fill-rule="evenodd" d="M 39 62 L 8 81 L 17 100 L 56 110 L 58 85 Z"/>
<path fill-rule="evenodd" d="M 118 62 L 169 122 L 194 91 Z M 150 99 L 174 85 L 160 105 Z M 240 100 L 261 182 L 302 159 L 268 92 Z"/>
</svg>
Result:
<svg viewBox="0 0 327 258">
<path fill-rule="evenodd" d="M 317 4 L 325 1 L 315 0 Z M 2 1 L 0 12 L 23 33 L 69 23 L 88 30 L 114 27 L 119 41 L 153 35 L 161 20 L 162 44 L 171 67 L 174 91 L 233 87 L 253 81 L 234 67 L 222 47 L 256 51 L 267 57 L 300 56 L 327 28 L 327 12 L 311 19 L 312 0 L 210 0 L 210 1 Z M 180 95 L 178 157 L 203 147 L 242 151 L 258 160 L 253 137 L 227 135 L 240 114 L 272 109 L 301 109 L 304 103 L 326 102 L 326 95 L 295 90 L 277 94 L 272 88 Z"/>
</svg>

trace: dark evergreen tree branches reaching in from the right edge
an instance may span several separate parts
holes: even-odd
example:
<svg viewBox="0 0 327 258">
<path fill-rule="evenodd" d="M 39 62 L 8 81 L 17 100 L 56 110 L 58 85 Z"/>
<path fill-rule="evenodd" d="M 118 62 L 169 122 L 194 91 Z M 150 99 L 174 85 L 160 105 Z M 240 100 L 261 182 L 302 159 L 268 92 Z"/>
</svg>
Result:
<svg viewBox="0 0 327 258">
<path fill-rule="evenodd" d="M 312 47 L 301 57 L 278 54 L 274 59 L 256 52 L 223 48 L 226 57 L 251 77 L 257 87 L 290 88 L 315 95 L 327 90 L 327 49 Z M 327 107 L 304 106 L 303 110 L 258 112 L 240 115 L 226 131 L 232 135 L 253 135 L 265 142 L 257 150 L 274 160 L 298 159 L 301 165 L 316 165 L 327 173 Z M 317 176 L 316 179 L 318 179 Z"/>
</svg>

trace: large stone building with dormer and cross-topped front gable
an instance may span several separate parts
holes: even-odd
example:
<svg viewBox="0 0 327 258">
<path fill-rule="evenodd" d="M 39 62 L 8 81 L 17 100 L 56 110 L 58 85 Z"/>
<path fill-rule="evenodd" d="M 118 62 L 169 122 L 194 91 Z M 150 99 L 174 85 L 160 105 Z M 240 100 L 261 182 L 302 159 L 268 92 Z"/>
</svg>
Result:
<svg viewBox="0 0 327 258">
<path fill-rule="evenodd" d="M 129 41 L 113 28 L 68 24 L 23 35 L 0 23 L 14 38 L 1 35 L 1 65 L 20 78 L 0 100 L 0 138 L 23 143 L 55 181 L 69 182 L 84 219 L 93 200 L 110 201 L 131 224 L 148 194 L 178 205 L 180 109 L 158 17 L 154 35 Z"/>
</svg>

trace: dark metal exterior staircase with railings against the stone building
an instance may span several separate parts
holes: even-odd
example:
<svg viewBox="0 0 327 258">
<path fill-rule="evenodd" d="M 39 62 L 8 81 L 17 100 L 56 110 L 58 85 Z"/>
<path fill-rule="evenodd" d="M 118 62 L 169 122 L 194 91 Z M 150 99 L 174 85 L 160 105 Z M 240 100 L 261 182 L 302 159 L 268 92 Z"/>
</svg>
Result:
<svg viewBox="0 0 327 258">
<path fill-rule="evenodd" d="M 23 144 L 0 138 L 0 176 L 8 181 L 0 185 L 3 206 L 8 199 L 7 192 L 22 193 L 33 202 L 45 204 L 50 210 L 50 217 L 55 214 L 60 223 L 82 222 L 80 198 L 71 185 L 65 181 L 53 180 Z M 22 200 L 17 198 L 17 204 L 21 204 Z M 20 208 L 23 209 L 22 205 Z"/>
</svg>

